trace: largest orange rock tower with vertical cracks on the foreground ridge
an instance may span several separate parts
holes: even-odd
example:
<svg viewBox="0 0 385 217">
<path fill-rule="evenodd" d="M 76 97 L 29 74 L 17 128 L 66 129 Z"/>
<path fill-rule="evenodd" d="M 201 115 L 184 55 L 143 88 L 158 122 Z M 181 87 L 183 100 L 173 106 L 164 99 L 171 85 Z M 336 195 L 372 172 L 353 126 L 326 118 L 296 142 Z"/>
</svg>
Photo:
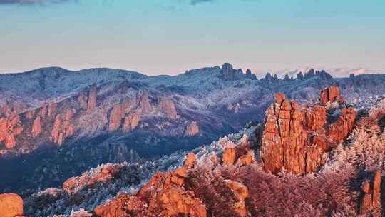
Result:
<svg viewBox="0 0 385 217">
<path fill-rule="evenodd" d="M 336 89 L 331 90 L 334 93 Z M 337 99 L 335 94 L 327 96 Z M 284 94 L 274 94 L 274 104 L 266 111 L 265 129 L 260 136 L 264 170 L 276 173 L 285 169 L 294 174 L 316 171 L 324 164 L 324 153 L 351 133 L 355 118 L 354 109 L 342 108 L 337 121 L 327 123 L 327 107 L 300 108 Z"/>
</svg>

